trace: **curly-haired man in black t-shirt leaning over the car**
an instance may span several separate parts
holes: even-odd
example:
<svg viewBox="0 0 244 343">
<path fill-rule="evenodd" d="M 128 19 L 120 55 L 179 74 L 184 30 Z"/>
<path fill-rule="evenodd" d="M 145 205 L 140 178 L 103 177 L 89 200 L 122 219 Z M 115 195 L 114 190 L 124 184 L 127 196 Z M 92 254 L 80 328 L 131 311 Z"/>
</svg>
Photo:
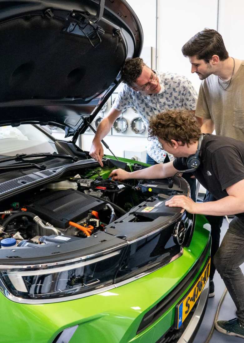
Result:
<svg viewBox="0 0 244 343">
<path fill-rule="evenodd" d="M 239 268 L 244 262 L 244 143 L 212 134 L 202 136 L 192 113 L 177 110 L 153 117 L 149 136 L 157 137 L 161 148 L 173 154 L 175 160 L 132 173 L 116 169 L 110 177 L 113 180 L 167 178 L 189 169 L 189 160 L 197 153 L 200 166 L 193 175 L 217 201 L 195 203 L 186 196 L 177 195 L 165 204 L 195 214 L 235 215 L 212 258 L 236 305 L 238 318 L 218 321 L 215 328 L 244 338 L 244 275 Z"/>
</svg>

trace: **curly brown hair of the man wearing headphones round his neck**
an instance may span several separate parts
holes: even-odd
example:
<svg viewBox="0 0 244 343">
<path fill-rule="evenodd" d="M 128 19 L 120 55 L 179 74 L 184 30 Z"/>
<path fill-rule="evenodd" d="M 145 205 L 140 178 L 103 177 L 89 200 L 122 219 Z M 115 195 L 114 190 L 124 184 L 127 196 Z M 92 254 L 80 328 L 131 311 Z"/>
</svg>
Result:
<svg viewBox="0 0 244 343">
<path fill-rule="evenodd" d="M 148 137 L 163 139 L 171 146 L 171 139 L 189 146 L 195 143 L 200 135 L 200 126 L 194 112 L 190 110 L 167 110 L 153 116 L 149 122 Z"/>
</svg>

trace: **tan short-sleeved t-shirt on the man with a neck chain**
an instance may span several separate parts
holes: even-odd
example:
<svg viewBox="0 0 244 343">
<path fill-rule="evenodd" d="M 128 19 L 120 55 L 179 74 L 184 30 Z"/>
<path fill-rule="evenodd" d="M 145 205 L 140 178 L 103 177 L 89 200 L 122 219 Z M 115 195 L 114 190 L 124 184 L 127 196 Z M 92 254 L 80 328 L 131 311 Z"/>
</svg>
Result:
<svg viewBox="0 0 244 343">
<path fill-rule="evenodd" d="M 228 82 L 220 80 L 223 88 Z M 244 61 L 226 91 L 220 88 L 216 75 L 202 81 L 195 115 L 212 119 L 217 135 L 244 142 Z"/>
</svg>

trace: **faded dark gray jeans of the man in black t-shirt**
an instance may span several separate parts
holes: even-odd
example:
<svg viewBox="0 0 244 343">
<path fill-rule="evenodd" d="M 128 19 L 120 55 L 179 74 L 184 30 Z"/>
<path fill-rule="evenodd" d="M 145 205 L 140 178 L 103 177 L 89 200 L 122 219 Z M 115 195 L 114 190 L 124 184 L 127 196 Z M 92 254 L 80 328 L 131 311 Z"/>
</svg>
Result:
<svg viewBox="0 0 244 343">
<path fill-rule="evenodd" d="M 222 243 L 213 258 L 232 300 L 237 317 L 244 325 L 244 275 L 240 265 L 244 262 L 244 220 L 234 217 Z"/>
</svg>

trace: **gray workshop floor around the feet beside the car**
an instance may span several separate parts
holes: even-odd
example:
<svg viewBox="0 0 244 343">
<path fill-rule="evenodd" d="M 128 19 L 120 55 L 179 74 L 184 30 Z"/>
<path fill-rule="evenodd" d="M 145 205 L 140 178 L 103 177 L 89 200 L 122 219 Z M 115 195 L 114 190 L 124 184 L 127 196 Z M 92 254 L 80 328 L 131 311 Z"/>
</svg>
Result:
<svg viewBox="0 0 244 343">
<path fill-rule="evenodd" d="M 226 221 L 226 219 L 224 219 L 224 222 L 221 228 L 221 239 L 223 238 L 227 228 L 228 228 L 228 222 Z M 241 269 L 244 272 L 244 264 L 241 266 Z M 223 280 L 219 276 L 218 272 L 215 273 L 213 280 L 214 280 L 214 286 L 215 286 L 215 296 L 213 298 L 209 298 L 208 307 L 206 309 L 205 316 L 203 318 L 202 324 L 200 326 L 200 329 L 193 343 L 205 342 L 209 334 L 209 331 L 211 329 L 219 300 L 225 289 Z M 229 319 L 235 318 L 236 317 L 235 310 L 236 310 L 235 305 L 229 293 L 227 293 L 223 301 L 218 319 L 229 320 Z M 213 336 L 210 340 L 210 343 L 241 343 L 241 342 L 244 342 L 242 338 L 239 338 L 236 336 L 224 335 L 216 330 L 214 330 Z"/>
</svg>

